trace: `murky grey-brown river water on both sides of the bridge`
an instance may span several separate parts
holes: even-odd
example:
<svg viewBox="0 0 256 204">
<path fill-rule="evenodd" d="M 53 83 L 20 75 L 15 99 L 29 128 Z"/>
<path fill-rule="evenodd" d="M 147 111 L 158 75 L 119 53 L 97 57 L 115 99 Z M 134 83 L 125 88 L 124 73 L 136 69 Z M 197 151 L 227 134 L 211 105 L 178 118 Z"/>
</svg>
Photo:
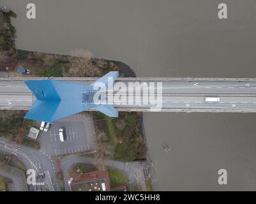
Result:
<svg viewBox="0 0 256 204">
<path fill-rule="evenodd" d="M 76 48 L 122 61 L 138 77 L 256 78 L 256 2 L 225 0 L 1 0 L 17 13 L 17 48 Z M 27 3 L 36 19 L 26 18 Z M 255 190 L 255 113 L 145 113 L 153 189 Z M 167 143 L 170 152 L 163 150 Z M 218 170 L 228 184 L 219 185 Z"/>
</svg>

